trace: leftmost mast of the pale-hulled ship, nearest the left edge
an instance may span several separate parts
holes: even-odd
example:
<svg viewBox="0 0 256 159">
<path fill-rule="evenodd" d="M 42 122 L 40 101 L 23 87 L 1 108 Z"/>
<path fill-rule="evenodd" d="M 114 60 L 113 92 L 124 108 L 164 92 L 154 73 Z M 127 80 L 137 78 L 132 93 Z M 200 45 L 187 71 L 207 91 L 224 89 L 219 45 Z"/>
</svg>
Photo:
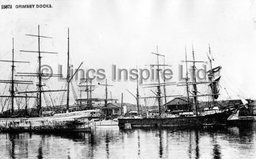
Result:
<svg viewBox="0 0 256 159">
<path fill-rule="evenodd" d="M 12 98 L 12 113 L 14 115 L 14 38 L 12 38 L 12 81 L 11 81 L 11 98 Z"/>
</svg>

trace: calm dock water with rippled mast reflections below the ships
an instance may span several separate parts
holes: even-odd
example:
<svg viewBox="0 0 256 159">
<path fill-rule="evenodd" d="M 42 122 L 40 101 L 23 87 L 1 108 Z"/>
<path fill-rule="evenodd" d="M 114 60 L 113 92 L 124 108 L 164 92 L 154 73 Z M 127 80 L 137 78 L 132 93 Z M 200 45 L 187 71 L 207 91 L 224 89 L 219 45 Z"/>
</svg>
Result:
<svg viewBox="0 0 256 159">
<path fill-rule="evenodd" d="M 222 130 L 0 133 L 0 158 L 256 158 L 256 124 Z"/>
</svg>

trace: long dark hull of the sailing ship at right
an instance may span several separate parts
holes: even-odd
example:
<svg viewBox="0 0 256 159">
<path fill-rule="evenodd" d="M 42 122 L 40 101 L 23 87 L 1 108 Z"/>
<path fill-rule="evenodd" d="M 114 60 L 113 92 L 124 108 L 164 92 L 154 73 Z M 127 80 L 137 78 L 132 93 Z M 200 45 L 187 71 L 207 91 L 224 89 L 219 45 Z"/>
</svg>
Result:
<svg viewBox="0 0 256 159">
<path fill-rule="evenodd" d="M 132 128 L 193 128 L 198 126 L 225 126 L 227 118 L 232 111 L 215 113 L 199 117 L 170 117 L 170 118 L 145 118 L 145 119 L 118 119 L 119 127 L 124 128 L 130 124 Z"/>
</svg>

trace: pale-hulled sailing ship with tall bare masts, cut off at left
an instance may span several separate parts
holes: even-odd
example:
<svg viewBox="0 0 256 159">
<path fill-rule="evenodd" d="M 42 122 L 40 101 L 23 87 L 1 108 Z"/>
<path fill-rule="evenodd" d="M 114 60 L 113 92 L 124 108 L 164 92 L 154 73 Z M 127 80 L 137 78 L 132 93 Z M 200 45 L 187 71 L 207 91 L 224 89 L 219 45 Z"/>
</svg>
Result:
<svg viewBox="0 0 256 159">
<path fill-rule="evenodd" d="M 42 67 L 42 53 L 53 53 L 46 52 L 40 50 L 40 39 L 41 38 L 51 38 L 47 36 L 40 35 L 40 26 L 38 25 L 38 35 L 30 35 L 29 36 L 38 38 L 38 50 L 20 50 L 25 53 L 38 53 L 38 72 L 36 73 L 20 73 L 16 76 L 35 76 L 38 77 L 37 90 L 36 91 L 18 91 L 16 96 L 14 90 L 14 84 L 19 85 L 33 85 L 32 81 L 18 81 L 14 80 L 14 63 L 27 63 L 26 61 L 14 61 L 14 42 L 12 48 L 12 61 L 1 60 L 4 62 L 12 62 L 12 78 L 11 80 L 2 80 L 1 83 L 10 83 L 10 96 L 0 96 L 1 98 L 10 98 L 11 99 L 11 109 L 5 115 L 0 116 L 0 130 L 1 131 L 27 131 L 27 132 L 46 132 L 46 131 L 87 131 L 90 130 L 89 126 L 89 117 L 95 113 L 95 110 L 81 110 L 81 111 L 69 111 L 69 94 L 70 94 L 70 82 L 74 76 L 70 76 L 70 50 L 69 50 L 69 29 L 68 29 L 68 68 L 67 68 L 67 77 L 66 83 L 68 85 L 67 90 L 44 90 L 42 84 L 42 77 L 44 76 L 62 76 L 61 74 L 44 74 L 41 71 Z M 82 64 L 82 63 L 81 63 Z M 81 65 L 80 65 L 81 66 Z M 79 68 L 80 68 L 79 66 Z M 61 113 L 57 113 L 55 111 L 51 111 L 51 113 L 43 112 L 42 107 L 42 93 L 51 92 L 51 91 L 66 91 L 67 99 L 66 99 L 66 110 L 61 111 Z M 27 96 L 27 93 L 37 93 L 37 96 Z M 19 94 L 25 94 L 25 96 L 20 96 Z M 25 114 L 15 115 L 14 114 L 14 98 L 25 98 L 26 106 L 25 106 Z M 37 101 L 37 108 L 35 113 L 28 113 L 27 110 L 27 98 L 35 98 Z M 46 115 L 44 115 L 46 114 Z"/>
</svg>

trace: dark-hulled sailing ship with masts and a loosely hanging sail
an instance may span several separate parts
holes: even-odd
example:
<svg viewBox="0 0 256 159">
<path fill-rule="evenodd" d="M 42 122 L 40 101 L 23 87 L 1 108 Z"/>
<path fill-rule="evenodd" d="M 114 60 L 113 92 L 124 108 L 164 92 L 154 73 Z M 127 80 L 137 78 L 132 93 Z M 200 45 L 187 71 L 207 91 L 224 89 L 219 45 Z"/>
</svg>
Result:
<svg viewBox="0 0 256 159">
<path fill-rule="evenodd" d="M 210 46 L 209 46 L 210 51 Z M 186 53 L 186 48 L 185 48 Z M 196 66 L 195 63 L 202 63 L 205 61 L 195 61 L 195 53 L 194 49 L 193 53 L 193 61 L 188 61 L 186 57 L 186 82 L 185 83 L 166 83 L 164 79 L 164 83 L 160 83 L 160 66 L 167 66 L 165 63 L 159 64 L 159 57 L 165 57 L 165 55 L 160 55 L 158 53 L 158 47 L 156 48 L 156 53 L 152 53 L 157 56 L 157 64 L 152 66 L 157 66 L 157 75 L 158 75 L 158 83 L 148 84 L 147 87 L 156 87 L 157 93 L 156 96 L 152 97 L 142 97 L 144 98 L 157 98 L 158 100 L 158 113 L 149 113 L 147 111 L 147 115 L 144 117 L 119 117 L 119 128 L 156 128 L 156 127 L 182 127 L 182 128 L 191 128 L 197 126 L 225 126 L 227 124 L 227 119 L 233 113 L 235 113 L 240 106 L 229 106 L 225 109 L 218 109 L 216 106 L 216 99 L 220 95 L 218 93 L 218 81 L 221 77 L 216 77 L 215 74 L 218 73 L 219 68 L 212 68 L 212 59 L 209 57 L 210 60 L 210 70 L 208 73 L 208 82 L 197 82 L 196 78 Z M 193 81 L 188 81 L 188 66 L 187 63 L 193 63 L 192 71 L 193 71 Z M 210 87 L 211 93 L 210 94 L 198 94 L 199 91 L 197 90 L 197 85 L 207 84 Z M 171 114 L 167 113 L 167 97 L 181 97 L 181 95 L 177 96 L 167 96 L 165 92 L 166 85 L 177 85 L 177 86 L 186 86 L 186 97 L 188 101 L 191 101 L 190 98 L 193 98 L 193 104 L 190 104 L 190 109 L 186 112 L 182 112 L 179 114 Z M 193 86 L 193 91 L 189 91 L 188 86 Z M 164 87 L 164 96 L 162 96 L 160 87 Z M 139 97 L 138 94 L 138 86 L 137 86 L 137 105 L 139 108 Z M 154 93 L 154 92 L 153 92 Z M 190 95 L 192 93 L 192 96 Z M 210 96 L 212 97 L 212 101 L 210 102 L 210 109 L 204 109 L 199 111 L 199 100 L 198 97 L 202 96 Z M 165 98 L 165 104 L 162 104 L 162 98 Z M 165 106 L 162 109 L 162 106 Z M 244 106 L 244 105 L 241 105 Z M 138 109 L 139 113 L 139 109 Z"/>
</svg>

